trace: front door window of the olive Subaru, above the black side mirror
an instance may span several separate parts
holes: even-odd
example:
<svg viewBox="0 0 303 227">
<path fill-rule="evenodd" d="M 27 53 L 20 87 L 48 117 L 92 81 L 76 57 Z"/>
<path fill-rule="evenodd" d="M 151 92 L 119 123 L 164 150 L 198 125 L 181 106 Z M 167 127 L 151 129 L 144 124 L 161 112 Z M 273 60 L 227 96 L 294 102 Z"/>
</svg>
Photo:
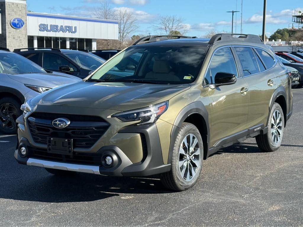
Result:
<svg viewBox="0 0 303 227">
<path fill-rule="evenodd" d="M 235 58 L 229 47 L 221 48 L 215 52 L 209 65 L 209 69 L 212 78 L 215 78 L 215 75 L 218 72 L 231 73 L 238 77 Z"/>
</svg>

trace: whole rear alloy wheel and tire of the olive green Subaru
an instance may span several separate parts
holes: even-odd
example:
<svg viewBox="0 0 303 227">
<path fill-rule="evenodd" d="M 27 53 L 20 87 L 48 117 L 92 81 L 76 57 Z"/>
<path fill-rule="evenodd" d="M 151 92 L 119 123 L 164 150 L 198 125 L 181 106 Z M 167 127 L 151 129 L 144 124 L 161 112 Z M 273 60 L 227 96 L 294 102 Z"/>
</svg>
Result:
<svg viewBox="0 0 303 227">
<path fill-rule="evenodd" d="M 269 115 L 267 133 L 256 136 L 258 147 L 263 151 L 277 150 L 283 139 L 284 125 L 283 110 L 278 103 L 274 103 Z"/>
</svg>

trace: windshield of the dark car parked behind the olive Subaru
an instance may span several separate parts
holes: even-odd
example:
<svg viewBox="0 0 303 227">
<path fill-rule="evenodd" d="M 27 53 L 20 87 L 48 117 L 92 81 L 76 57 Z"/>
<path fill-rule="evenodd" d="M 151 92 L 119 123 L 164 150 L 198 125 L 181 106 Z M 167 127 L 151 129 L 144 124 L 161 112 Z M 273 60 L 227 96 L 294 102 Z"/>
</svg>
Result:
<svg viewBox="0 0 303 227">
<path fill-rule="evenodd" d="M 67 53 L 65 55 L 77 63 L 81 68 L 87 70 L 95 70 L 105 62 L 103 58 L 99 58 L 96 55 L 83 53 L 80 51 L 77 53 Z"/>
</svg>

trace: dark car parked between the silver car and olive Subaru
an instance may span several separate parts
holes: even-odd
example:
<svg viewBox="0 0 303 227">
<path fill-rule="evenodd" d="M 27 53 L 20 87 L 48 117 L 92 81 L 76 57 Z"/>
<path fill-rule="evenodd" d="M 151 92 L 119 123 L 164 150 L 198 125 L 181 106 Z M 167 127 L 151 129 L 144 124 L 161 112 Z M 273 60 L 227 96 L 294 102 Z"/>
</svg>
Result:
<svg viewBox="0 0 303 227">
<path fill-rule="evenodd" d="M 67 73 L 85 78 L 105 60 L 85 51 L 56 48 L 25 48 L 14 52 L 35 62 L 48 71 Z"/>
</svg>

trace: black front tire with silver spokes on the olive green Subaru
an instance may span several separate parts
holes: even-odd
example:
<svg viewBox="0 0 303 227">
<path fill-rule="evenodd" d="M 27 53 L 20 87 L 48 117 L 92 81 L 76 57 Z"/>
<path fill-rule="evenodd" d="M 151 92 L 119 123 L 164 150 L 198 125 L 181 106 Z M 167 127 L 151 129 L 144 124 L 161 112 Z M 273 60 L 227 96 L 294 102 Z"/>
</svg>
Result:
<svg viewBox="0 0 303 227">
<path fill-rule="evenodd" d="M 185 151 L 185 154 L 187 153 L 188 150 L 186 151 L 186 149 L 188 147 L 188 143 L 187 143 L 187 147 L 185 147 L 184 146 L 185 143 L 183 143 L 183 140 L 185 140 L 185 137 L 187 136 L 186 141 L 190 142 L 189 140 L 191 138 L 191 135 L 193 135 L 195 139 L 197 139 L 197 144 L 195 146 L 192 146 L 193 149 L 191 151 L 189 150 L 190 153 L 188 154 L 188 156 L 179 153 L 181 146 L 182 148 L 184 148 L 184 150 L 183 149 L 182 150 Z M 192 137 L 192 140 L 194 140 L 194 137 Z M 194 143 L 195 140 L 193 141 L 192 144 Z M 198 151 L 198 147 L 199 147 L 199 151 Z M 199 153 L 199 154 L 197 155 L 195 153 L 197 154 Z M 195 157 L 192 156 L 191 159 L 191 155 L 195 155 Z M 180 160 L 181 162 L 184 161 L 181 167 L 179 167 Z M 198 165 L 195 164 L 197 160 L 198 160 Z M 202 161 L 203 161 L 203 142 L 199 130 L 197 129 L 197 127 L 195 127 L 195 125 L 191 123 L 182 123 L 174 144 L 174 150 L 172 153 L 172 160 L 171 160 L 171 170 L 167 173 L 161 174 L 162 184 L 166 188 L 173 191 L 185 191 L 191 188 L 192 186 L 195 185 L 195 183 L 198 180 L 198 177 L 202 169 Z M 191 164 L 186 164 L 185 162 Z M 191 165 L 191 171 L 189 170 L 190 165 Z M 185 170 L 185 172 L 183 173 L 183 176 L 181 175 L 181 168 L 182 170 L 184 170 L 184 168 L 187 168 L 187 170 Z M 190 176 L 190 174 L 192 176 Z M 188 177 L 189 180 L 185 179 L 185 175 L 186 177 L 188 177 L 189 175 Z"/>
</svg>

